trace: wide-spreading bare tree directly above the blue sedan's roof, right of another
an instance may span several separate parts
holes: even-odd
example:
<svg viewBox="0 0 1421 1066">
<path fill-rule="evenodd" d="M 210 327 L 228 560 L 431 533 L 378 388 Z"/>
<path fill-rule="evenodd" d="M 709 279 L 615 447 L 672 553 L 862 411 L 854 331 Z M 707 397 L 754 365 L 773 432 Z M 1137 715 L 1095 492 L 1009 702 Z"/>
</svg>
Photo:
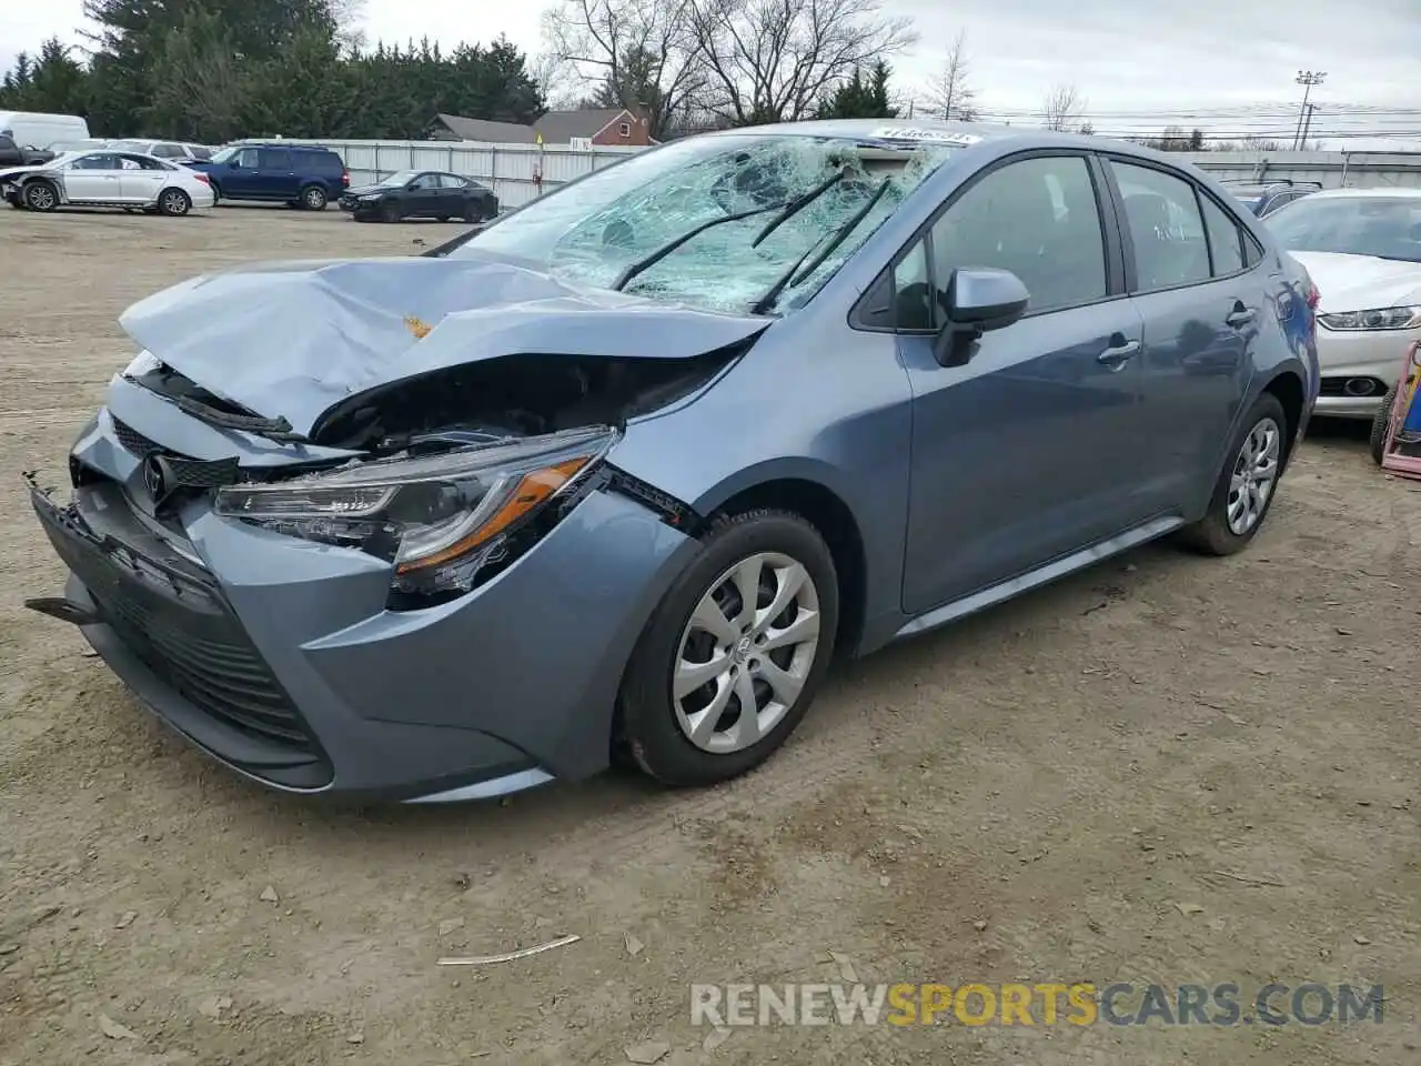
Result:
<svg viewBox="0 0 1421 1066">
<path fill-rule="evenodd" d="M 809 118 L 837 84 L 917 41 L 882 0 L 685 0 L 706 109 L 733 125 Z"/>
</svg>

